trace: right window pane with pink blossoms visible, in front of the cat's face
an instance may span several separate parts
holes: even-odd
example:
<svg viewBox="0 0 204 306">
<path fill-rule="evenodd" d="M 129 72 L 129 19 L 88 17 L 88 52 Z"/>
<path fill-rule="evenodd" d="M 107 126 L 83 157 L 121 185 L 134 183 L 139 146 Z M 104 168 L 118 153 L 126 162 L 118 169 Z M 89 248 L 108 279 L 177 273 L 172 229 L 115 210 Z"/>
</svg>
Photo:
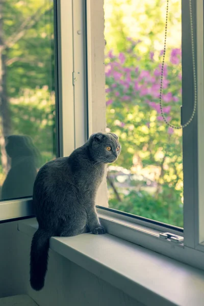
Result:
<svg viewBox="0 0 204 306">
<path fill-rule="evenodd" d="M 166 1 L 105 0 L 107 131 L 122 145 L 109 166 L 109 206 L 183 227 L 182 130 L 160 106 Z M 169 1 L 163 110 L 180 125 L 181 0 Z"/>
</svg>

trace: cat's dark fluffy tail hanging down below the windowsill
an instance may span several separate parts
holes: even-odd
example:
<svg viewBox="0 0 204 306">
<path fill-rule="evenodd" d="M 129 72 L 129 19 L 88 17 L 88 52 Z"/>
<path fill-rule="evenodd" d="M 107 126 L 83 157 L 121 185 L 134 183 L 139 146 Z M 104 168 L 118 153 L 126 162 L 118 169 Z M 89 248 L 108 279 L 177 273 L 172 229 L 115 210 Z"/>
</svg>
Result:
<svg viewBox="0 0 204 306">
<path fill-rule="evenodd" d="M 52 234 L 39 228 L 31 244 L 30 283 L 31 287 L 37 291 L 44 287 L 50 237 Z"/>
</svg>

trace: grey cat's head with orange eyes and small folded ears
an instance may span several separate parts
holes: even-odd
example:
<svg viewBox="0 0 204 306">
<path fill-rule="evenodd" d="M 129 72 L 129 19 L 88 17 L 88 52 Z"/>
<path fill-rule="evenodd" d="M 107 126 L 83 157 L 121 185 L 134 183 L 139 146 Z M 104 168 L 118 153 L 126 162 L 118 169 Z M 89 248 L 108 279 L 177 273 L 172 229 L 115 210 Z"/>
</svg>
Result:
<svg viewBox="0 0 204 306">
<path fill-rule="evenodd" d="M 98 164 L 115 162 L 120 150 L 118 136 L 113 133 L 96 133 L 90 137 L 90 155 Z"/>
</svg>

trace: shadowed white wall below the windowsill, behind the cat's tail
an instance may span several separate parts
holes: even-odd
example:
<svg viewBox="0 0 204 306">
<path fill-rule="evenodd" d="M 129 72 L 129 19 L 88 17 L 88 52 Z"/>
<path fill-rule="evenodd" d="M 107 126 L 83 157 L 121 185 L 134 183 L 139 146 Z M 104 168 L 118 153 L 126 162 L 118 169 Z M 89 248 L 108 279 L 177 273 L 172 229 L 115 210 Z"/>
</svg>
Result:
<svg viewBox="0 0 204 306">
<path fill-rule="evenodd" d="M 0 243 L 0 297 L 28 293 L 39 306 L 142 306 L 52 250 L 45 287 L 35 292 L 29 284 L 31 237 L 17 231 L 17 222 L 5 223 Z"/>
</svg>

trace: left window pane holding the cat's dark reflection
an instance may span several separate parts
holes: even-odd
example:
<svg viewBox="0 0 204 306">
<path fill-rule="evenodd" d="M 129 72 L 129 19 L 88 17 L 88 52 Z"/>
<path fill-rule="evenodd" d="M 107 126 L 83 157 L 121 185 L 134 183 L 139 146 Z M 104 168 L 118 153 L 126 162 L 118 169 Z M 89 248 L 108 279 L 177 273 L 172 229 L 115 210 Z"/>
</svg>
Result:
<svg viewBox="0 0 204 306">
<path fill-rule="evenodd" d="M 0 1 L 1 199 L 32 195 L 56 158 L 54 3 Z"/>
</svg>

